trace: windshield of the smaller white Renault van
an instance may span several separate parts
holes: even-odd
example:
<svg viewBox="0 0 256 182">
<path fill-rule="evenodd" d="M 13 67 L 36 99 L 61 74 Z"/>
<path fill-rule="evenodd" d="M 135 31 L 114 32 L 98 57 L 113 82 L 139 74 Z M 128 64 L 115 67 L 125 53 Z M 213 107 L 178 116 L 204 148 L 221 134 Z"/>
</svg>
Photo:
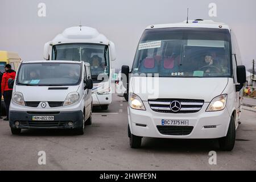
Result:
<svg viewBox="0 0 256 182">
<path fill-rule="evenodd" d="M 81 82 L 81 64 L 24 63 L 20 66 L 17 84 L 32 86 L 66 86 Z"/>
</svg>

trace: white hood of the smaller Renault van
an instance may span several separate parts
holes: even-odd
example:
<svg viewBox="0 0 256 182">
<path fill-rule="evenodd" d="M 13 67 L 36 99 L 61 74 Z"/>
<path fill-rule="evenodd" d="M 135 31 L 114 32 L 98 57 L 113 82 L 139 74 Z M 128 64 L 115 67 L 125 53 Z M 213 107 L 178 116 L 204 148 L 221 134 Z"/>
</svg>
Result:
<svg viewBox="0 0 256 182">
<path fill-rule="evenodd" d="M 51 90 L 49 90 L 51 88 Z M 65 88 L 65 89 L 60 89 Z M 66 89 L 67 88 L 67 89 Z M 23 94 L 24 101 L 65 101 L 71 92 L 77 92 L 79 85 L 75 86 L 26 86 L 15 85 L 14 91 Z"/>
</svg>

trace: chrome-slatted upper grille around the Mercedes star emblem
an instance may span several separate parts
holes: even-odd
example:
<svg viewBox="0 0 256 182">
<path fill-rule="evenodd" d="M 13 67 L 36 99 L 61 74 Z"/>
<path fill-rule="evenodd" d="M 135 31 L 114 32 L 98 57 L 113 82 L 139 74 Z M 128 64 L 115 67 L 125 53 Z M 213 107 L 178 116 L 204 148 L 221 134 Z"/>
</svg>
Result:
<svg viewBox="0 0 256 182">
<path fill-rule="evenodd" d="M 171 103 L 179 101 L 181 108 L 179 111 L 171 110 Z M 191 100 L 191 99 L 163 99 L 148 100 L 150 108 L 159 113 L 197 113 L 204 105 L 204 100 Z"/>
</svg>

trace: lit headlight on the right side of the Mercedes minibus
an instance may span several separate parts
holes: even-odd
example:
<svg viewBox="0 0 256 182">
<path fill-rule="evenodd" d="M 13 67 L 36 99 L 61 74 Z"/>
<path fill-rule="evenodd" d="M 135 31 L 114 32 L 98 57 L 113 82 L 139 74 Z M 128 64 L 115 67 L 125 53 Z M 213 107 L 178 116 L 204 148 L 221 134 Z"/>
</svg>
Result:
<svg viewBox="0 0 256 182">
<path fill-rule="evenodd" d="M 223 110 L 226 106 L 226 100 L 228 98 L 227 94 L 223 94 L 221 96 L 213 98 L 212 102 L 210 102 L 206 111 L 218 111 Z"/>
</svg>

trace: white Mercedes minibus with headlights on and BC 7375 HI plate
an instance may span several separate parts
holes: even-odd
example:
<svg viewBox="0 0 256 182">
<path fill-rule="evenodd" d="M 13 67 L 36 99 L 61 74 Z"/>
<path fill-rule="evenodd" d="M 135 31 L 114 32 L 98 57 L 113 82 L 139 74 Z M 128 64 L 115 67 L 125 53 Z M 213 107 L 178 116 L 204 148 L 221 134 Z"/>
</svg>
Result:
<svg viewBox="0 0 256 182">
<path fill-rule="evenodd" d="M 122 73 L 128 77 L 129 67 Z M 228 25 L 198 19 L 149 26 L 130 73 L 131 147 L 142 137 L 218 138 L 222 150 L 233 149 L 246 76 Z"/>
</svg>

